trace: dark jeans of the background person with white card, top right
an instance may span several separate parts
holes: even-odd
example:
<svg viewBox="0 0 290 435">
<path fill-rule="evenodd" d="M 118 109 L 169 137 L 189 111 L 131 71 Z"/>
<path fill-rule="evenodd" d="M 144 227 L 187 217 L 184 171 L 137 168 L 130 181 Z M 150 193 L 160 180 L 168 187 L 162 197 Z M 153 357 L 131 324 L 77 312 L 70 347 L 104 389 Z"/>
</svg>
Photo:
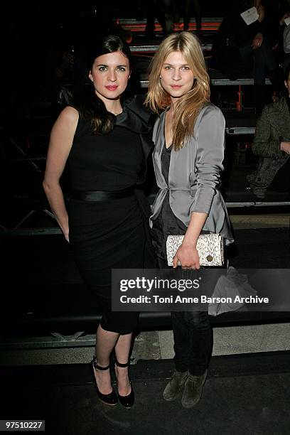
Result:
<svg viewBox="0 0 290 435">
<path fill-rule="evenodd" d="M 245 60 L 249 57 L 254 59 L 255 85 L 264 85 L 267 74 L 278 68 L 271 44 L 267 38 L 264 38 L 262 45 L 255 50 L 253 50 L 250 43 L 243 45 L 240 47 L 240 54 Z"/>
</svg>

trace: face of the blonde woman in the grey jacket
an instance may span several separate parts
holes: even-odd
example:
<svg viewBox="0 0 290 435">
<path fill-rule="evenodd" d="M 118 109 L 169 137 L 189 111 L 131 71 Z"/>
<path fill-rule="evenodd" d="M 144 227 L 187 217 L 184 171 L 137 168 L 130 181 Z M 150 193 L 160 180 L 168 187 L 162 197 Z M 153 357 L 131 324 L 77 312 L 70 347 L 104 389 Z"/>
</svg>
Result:
<svg viewBox="0 0 290 435">
<path fill-rule="evenodd" d="M 162 65 L 161 85 L 171 98 L 180 98 L 193 87 L 194 75 L 180 51 L 170 53 Z"/>
</svg>

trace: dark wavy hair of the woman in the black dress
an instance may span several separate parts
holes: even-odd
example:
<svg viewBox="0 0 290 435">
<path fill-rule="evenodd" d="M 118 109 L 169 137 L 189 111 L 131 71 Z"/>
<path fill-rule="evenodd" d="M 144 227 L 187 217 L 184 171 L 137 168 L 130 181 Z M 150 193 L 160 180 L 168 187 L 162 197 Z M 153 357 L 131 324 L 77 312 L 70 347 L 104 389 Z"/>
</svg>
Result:
<svg viewBox="0 0 290 435">
<path fill-rule="evenodd" d="M 130 63 L 129 45 L 119 36 L 109 35 L 99 38 L 87 58 L 87 72 L 92 70 L 95 59 L 108 53 L 121 51 Z M 114 114 L 107 112 L 104 102 L 97 97 L 95 87 L 90 83 L 80 95 L 73 100 L 73 106 L 80 113 L 81 119 L 91 119 L 92 131 L 95 134 L 106 134 L 114 127 Z"/>
</svg>

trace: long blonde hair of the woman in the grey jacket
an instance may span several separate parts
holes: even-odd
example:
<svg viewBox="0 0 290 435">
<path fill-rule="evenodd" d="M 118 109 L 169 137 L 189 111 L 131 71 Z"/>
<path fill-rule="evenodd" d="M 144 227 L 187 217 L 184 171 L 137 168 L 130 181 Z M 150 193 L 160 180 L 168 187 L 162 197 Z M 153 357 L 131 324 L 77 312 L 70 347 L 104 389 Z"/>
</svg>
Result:
<svg viewBox="0 0 290 435">
<path fill-rule="evenodd" d="M 178 151 L 193 134 L 200 107 L 210 100 L 210 77 L 198 38 L 189 32 L 173 33 L 162 41 L 151 62 L 149 90 L 145 100 L 151 110 L 158 113 L 171 104 L 170 96 L 161 85 L 160 74 L 167 56 L 173 51 L 182 53 L 195 77 L 192 89 L 178 100 L 174 111 L 173 146 Z"/>
</svg>

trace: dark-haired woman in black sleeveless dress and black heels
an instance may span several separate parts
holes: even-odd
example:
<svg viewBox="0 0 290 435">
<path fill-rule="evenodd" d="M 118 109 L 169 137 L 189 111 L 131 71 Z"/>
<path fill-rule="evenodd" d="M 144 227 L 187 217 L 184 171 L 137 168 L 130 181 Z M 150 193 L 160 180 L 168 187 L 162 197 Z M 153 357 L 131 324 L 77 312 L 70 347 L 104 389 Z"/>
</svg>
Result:
<svg viewBox="0 0 290 435">
<path fill-rule="evenodd" d="M 145 220 L 134 186 L 144 178 L 151 148 L 149 115 L 136 97 L 120 101 L 130 77 L 129 55 L 117 36 L 97 44 L 90 62 L 92 86 L 53 126 L 43 181 L 82 277 L 102 307 L 90 366 L 97 395 L 117 404 L 109 372 L 114 350 L 119 402 L 127 408 L 134 403 L 128 360 L 138 313 L 112 312 L 111 270 L 144 267 Z M 67 161 L 73 188 L 69 213 L 59 183 Z"/>
</svg>

